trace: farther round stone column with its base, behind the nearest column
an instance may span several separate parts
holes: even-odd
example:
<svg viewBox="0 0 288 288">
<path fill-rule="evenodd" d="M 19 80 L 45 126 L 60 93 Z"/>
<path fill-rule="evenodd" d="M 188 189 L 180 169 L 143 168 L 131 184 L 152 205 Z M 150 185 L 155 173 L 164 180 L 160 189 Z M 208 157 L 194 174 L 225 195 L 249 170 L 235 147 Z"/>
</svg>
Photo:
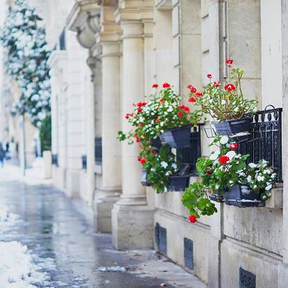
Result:
<svg viewBox="0 0 288 288">
<path fill-rule="evenodd" d="M 111 210 L 121 191 L 120 130 L 120 27 L 115 24 L 114 7 L 103 7 L 102 32 L 98 43 L 102 46 L 102 184 L 95 191 L 95 229 L 111 232 Z M 113 32 L 110 32 L 113 31 Z"/>
</svg>

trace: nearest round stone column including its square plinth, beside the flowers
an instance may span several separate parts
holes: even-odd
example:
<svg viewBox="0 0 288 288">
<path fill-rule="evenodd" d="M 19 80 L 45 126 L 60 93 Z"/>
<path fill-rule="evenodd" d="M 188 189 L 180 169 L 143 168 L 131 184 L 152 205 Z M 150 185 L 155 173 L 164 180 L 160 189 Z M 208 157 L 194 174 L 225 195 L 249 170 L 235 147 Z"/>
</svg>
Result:
<svg viewBox="0 0 288 288">
<path fill-rule="evenodd" d="M 131 10 L 129 10 L 131 13 Z M 120 12 L 120 18 L 123 16 Z M 126 18 L 126 17 L 123 17 Z M 122 18 L 122 19 L 123 19 Z M 143 23 L 121 19 L 123 31 L 123 95 L 122 128 L 129 131 L 124 114 L 131 104 L 143 101 Z M 132 18 L 135 19 L 135 18 Z M 141 167 L 137 162 L 137 146 L 122 144 L 122 196 L 112 210 L 113 245 L 117 249 L 153 247 L 154 211 L 147 205 L 146 189 L 140 184 Z"/>
</svg>

